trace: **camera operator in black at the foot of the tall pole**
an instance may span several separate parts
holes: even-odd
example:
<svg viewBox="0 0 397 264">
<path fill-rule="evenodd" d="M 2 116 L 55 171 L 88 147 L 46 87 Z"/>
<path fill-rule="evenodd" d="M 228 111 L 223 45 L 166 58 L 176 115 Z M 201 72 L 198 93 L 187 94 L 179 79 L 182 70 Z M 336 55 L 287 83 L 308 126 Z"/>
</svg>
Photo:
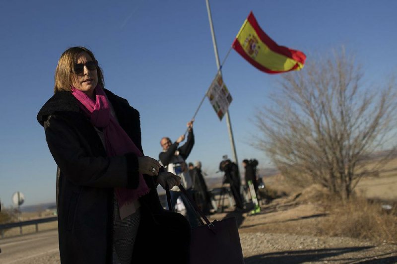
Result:
<svg viewBox="0 0 397 264">
<path fill-rule="evenodd" d="M 241 180 L 239 176 L 239 168 L 236 163 L 230 159 L 223 160 L 219 164 L 219 170 L 225 173 L 223 183 L 229 183 L 234 201 L 236 202 L 236 209 L 241 211 L 244 209 L 243 198 L 240 194 Z"/>
</svg>

